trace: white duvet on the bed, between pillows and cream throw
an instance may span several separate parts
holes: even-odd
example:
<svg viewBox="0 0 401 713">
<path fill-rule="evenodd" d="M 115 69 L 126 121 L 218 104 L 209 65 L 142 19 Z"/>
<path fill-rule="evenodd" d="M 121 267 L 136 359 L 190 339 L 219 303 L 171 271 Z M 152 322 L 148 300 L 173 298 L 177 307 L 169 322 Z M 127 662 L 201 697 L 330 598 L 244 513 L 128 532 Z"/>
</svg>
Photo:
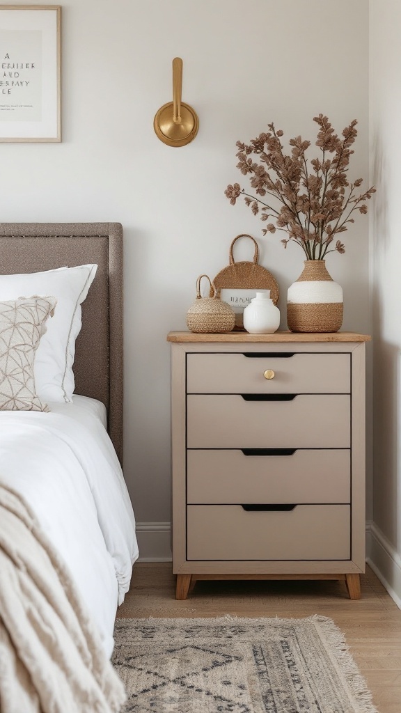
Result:
<svg viewBox="0 0 401 713">
<path fill-rule="evenodd" d="M 111 655 L 116 608 L 138 557 L 133 509 L 103 404 L 73 396 L 49 407 L 0 411 L 0 472 L 64 558 Z"/>
</svg>

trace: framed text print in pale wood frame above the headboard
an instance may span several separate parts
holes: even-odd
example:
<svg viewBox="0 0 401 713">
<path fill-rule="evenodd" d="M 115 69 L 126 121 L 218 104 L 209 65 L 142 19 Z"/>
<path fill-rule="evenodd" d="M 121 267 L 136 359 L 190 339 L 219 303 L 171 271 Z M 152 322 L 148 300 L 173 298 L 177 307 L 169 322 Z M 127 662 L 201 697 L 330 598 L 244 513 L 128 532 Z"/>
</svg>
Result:
<svg viewBox="0 0 401 713">
<path fill-rule="evenodd" d="M 61 141 L 61 6 L 0 5 L 0 141 Z"/>
</svg>

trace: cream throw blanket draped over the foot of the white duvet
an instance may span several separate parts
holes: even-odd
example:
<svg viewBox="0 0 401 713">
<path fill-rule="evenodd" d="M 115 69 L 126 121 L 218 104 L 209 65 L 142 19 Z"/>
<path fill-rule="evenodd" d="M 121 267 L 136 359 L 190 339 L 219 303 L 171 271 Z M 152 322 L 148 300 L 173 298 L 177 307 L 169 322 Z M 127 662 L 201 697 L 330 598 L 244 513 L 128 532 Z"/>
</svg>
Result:
<svg viewBox="0 0 401 713">
<path fill-rule="evenodd" d="M 1 713 L 115 713 L 125 697 L 64 563 L 0 479 Z"/>
</svg>

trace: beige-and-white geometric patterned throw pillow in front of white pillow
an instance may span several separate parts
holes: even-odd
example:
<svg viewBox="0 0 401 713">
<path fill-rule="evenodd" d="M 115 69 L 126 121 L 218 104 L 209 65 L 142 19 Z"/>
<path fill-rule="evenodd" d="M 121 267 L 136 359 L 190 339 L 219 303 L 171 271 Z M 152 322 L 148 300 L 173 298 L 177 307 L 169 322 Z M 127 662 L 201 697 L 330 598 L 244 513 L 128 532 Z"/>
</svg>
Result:
<svg viewBox="0 0 401 713">
<path fill-rule="evenodd" d="M 0 302 L 0 410 L 49 411 L 35 391 L 34 358 L 55 297 Z"/>
</svg>

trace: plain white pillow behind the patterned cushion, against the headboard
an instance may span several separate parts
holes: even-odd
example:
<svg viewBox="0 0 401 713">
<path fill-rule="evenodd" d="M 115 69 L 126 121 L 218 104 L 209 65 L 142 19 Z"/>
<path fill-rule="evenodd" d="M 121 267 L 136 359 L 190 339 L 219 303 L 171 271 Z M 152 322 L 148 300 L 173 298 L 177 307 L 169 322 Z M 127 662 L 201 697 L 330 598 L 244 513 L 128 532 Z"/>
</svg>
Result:
<svg viewBox="0 0 401 713">
<path fill-rule="evenodd" d="M 54 317 L 36 350 L 36 394 L 43 401 L 71 403 L 74 390 L 75 340 L 81 329 L 81 303 L 88 294 L 97 265 L 59 267 L 29 275 L 0 275 L 0 300 L 21 295 L 56 297 Z"/>
</svg>

